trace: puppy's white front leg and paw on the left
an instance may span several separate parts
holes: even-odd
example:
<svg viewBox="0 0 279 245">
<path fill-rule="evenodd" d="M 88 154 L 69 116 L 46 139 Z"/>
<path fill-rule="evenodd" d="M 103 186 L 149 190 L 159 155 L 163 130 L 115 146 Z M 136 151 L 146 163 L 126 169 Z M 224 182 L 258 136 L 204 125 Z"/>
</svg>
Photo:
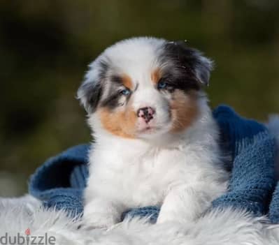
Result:
<svg viewBox="0 0 279 245">
<path fill-rule="evenodd" d="M 97 196 L 87 202 L 83 212 L 84 225 L 87 228 L 109 228 L 120 222 L 123 205 Z"/>
</svg>

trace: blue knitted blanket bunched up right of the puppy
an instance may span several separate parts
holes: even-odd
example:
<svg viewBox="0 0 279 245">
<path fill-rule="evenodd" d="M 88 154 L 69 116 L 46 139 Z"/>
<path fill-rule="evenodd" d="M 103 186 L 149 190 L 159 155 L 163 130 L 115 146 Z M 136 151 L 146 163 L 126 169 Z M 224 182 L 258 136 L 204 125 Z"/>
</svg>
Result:
<svg viewBox="0 0 279 245">
<path fill-rule="evenodd" d="M 213 207 L 232 206 L 245 208 L 256 216 L 266 214 L 275 184 L 274 138 L 262 124 L 243 119 L 227 107 L 218 107 L 213 116 L 234 159 L 229 191 L 214 200 Z"/>
</svg>

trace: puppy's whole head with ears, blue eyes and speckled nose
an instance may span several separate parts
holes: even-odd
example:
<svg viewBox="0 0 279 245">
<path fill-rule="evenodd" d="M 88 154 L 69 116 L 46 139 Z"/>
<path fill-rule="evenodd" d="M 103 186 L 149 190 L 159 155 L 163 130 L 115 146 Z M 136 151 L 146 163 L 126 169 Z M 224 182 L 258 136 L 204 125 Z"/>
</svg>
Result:
<svg viewBox="0 0 279 245">
<path fill-rule="evenodd" d="M 185 131 L 199 113 L 210 60 L 183 42 L 131 38 L 108 47 L 92 64 L 78 98 L 94 128 L 124 138 Z M 94 128 L 96 130 L 96 128 Z"/>
</svg>

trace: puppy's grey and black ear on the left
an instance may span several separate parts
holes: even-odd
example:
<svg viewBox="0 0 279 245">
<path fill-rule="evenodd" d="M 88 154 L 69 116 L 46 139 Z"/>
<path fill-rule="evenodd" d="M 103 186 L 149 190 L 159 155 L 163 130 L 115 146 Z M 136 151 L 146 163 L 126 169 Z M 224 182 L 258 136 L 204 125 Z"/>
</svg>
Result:
<svg viewBox="0 0 279 245">
<path fill-rule="evenodd" d="M 107 66 L 104 63 L 94 61 L 90 64 L 90 70 L 85 75 L 83 84 L 78 89 L 77 98 L 85 107 L 88 114 L 94 113 L 103 94 L 102 80 Z"/>
</svg>

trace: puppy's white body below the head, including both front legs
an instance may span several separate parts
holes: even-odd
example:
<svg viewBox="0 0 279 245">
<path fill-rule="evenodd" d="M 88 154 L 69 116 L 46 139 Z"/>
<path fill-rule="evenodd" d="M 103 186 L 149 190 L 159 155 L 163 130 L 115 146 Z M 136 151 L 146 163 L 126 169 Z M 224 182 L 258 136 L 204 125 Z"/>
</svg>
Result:
<svg viewBox="0 0 279 245">
<path fill-rule="evenodd" d="M 164 144 L 95 137 L 85 189 L 85 218 L 91 223 L 115 223 L 122 211 L 149 205 L 162 205 L 159 222 L 177 217 L 177 211 L 193 219 L 226 191 L 213 119 L 198 121 Z"/>
</svg>

